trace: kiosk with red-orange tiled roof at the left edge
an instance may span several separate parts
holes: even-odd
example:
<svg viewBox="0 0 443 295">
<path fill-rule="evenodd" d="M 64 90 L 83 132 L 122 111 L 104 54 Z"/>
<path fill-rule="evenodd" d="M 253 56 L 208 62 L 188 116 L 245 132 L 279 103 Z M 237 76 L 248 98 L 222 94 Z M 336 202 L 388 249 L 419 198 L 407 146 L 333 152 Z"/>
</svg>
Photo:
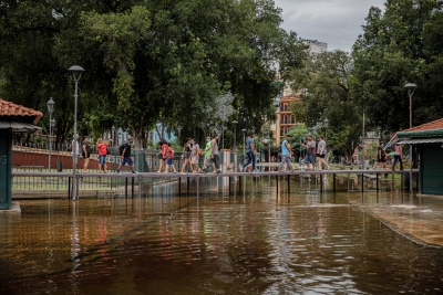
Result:
<svg viewBox="0 0 443 295">
<path fill-rule="evenodd" d="M 0 98 L 0 210 L 11 209 L 12 134 L 35 133 L 41 112 Z"/>
</svg>

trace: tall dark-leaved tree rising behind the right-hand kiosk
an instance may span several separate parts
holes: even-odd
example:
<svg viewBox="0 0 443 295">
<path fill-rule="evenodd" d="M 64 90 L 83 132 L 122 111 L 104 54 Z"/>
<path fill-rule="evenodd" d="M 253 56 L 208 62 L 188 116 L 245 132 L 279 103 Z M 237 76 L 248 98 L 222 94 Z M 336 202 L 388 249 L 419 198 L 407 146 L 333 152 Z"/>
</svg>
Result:
<svg viewBox="0 0 443 295">
<path fill-rule="evenodd" d="M 353 46 L 352 88 L 369 124 L 388 131 L 409 128 L 403 85 L 416 84 L 413 125 L 441 117 L 442 2 L 388 0 L 384 13 L 371 8 Z"/>
</svg>

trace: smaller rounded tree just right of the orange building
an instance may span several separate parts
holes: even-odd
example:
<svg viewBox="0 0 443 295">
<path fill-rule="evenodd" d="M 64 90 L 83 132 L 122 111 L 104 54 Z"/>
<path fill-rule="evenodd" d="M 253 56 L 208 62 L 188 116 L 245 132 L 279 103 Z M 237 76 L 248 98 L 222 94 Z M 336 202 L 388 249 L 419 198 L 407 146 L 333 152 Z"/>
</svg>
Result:
<svg viewBox="0 0 443 295">
<path fill-rule="evenodd" d="M 337 50 L 311 54 L 300 69 L 291 72 L 293 84 L 301 89 L 299 102 L 292 105 L 298 122 L 320 126 L 329 119 L 328 147 L 351 151 L 351 141 L 361 135 L 362 112 L 351 88 L 353 62 L 349 53 Z"/>
</svg>

